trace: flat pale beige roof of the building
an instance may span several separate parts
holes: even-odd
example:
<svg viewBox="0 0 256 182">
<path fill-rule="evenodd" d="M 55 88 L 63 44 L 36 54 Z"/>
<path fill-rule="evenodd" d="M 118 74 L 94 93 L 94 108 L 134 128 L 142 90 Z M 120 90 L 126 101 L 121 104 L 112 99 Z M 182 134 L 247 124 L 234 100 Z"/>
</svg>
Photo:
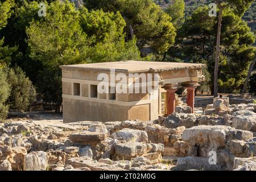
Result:
<svg viewBox="0 0 256 182">
<path fill-rule="evenodd" d="M 65 69 L 90 69 L 96 71 L 110 71 L 115 69 L 119 72 L 164 72 L 181 69 L 198 69 L 204 67 L 204 64 L 196 63 L 174 63 L 174 62 L 153 62 L 153 61 L 113 61 L 105 63 L 90 63 L 90 64 L 73 64 L 61 65 L 60 68 Z"/>
</svg>

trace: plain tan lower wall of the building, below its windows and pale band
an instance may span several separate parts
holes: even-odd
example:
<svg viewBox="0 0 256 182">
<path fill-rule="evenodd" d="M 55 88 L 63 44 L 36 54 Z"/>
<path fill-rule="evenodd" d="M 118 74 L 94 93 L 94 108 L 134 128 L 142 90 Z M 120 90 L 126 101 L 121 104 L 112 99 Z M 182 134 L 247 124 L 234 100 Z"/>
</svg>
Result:
<svg viewBox="0 0 256 182">
<path fill-rule="evenodd" d="M 150 104 L 122 106 L 106 104 L 101 102 L 73 100 L 63 98 L 63 121 L 125 121 L 129 119 L 139 119 L 148 121 L 157 119 L 158 115 L 151 115 Z"/>
</svg>

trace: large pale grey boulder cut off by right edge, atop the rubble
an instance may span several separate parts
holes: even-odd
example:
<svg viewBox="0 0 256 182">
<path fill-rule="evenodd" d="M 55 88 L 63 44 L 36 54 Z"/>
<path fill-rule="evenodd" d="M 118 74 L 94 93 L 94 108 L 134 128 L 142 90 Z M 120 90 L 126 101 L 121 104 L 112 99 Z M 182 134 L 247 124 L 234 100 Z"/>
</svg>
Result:
<svg viewBox="0 0 256 182">
<path fill-rule="evenodd" d="M 256 113 L 240 110 L 233 114 L 232 127 L 247 131 L 256 131 Z"/>
</svg>

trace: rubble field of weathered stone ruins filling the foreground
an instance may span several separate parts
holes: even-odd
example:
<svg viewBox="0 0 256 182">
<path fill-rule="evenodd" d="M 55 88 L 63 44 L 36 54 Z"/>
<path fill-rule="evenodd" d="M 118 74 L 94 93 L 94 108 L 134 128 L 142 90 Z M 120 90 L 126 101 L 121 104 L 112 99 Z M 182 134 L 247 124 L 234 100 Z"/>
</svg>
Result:
<svg viewBox="0 0 256 182">
<path fill-rule="evenodd" d="M 10 119 L 0 123 L 0 170 L 255 170 L 255 111 L 216 99 L 203 114 L 180 105 L 147 122 Z"/>
</svg>

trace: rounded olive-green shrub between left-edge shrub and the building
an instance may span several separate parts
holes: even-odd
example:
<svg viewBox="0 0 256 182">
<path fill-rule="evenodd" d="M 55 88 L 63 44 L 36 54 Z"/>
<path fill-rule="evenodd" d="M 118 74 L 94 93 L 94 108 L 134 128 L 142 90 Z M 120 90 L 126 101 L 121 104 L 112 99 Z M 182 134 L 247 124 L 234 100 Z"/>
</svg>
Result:
<svg viewBox="0 0 256 182">
<path fill-rule="evenodd" d="M 32 82 L 20 67 L 10 68 L 8 70 L 8 80 L 11 85 L 11 95 L 9 104 L 11 109 L 24 111 L 35 101 L 35 88 Z"/>
</svg>

